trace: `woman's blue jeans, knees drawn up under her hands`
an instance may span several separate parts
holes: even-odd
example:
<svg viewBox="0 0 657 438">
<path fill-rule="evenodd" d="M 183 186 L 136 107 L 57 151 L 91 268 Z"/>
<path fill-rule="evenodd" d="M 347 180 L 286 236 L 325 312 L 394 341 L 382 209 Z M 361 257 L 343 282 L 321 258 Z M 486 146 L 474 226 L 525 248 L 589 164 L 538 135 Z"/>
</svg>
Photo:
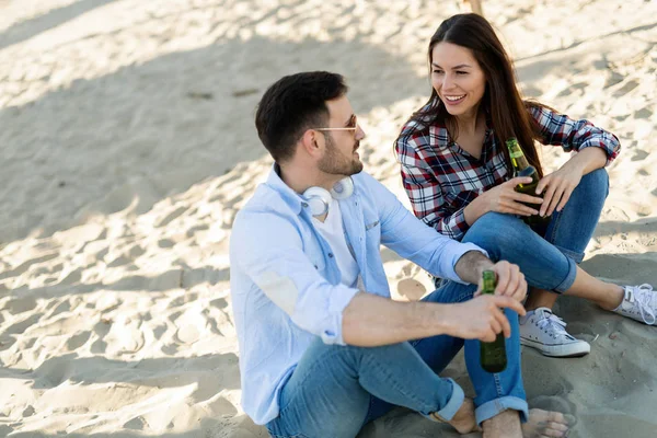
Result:
<svg viewBox="0 0 657 438">
<path fill-rule="evenodd" d="M 494 261 L 517 264 L 530 286 L 562 293 L 575 281 L 608 194 L 609 176 L 598 169 L 585 175 L 564 209 L 552 215 L 544 238 L 515 216 L 488 212 L 462 241 L 483 247 Z"/>
</svg>

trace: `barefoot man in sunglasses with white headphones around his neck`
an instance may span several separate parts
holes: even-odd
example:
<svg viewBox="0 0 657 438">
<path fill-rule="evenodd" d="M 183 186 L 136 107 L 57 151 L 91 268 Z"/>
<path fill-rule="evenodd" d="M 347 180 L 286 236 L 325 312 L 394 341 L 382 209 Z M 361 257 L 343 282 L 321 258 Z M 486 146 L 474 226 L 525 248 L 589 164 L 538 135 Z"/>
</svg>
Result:
<svg viewBox="0 0 657 438">
<path fill-rule="evenodd" d="M 534 410 L 520 427 L 522 274 L 436 233 L 361 172 L 365 132 L 346 91 L 338 74 L 292 74 L 257 108 L 276 163 L 238 214 L 230 247 L 244 411 L 277 437 L 354 437 L 393 405 L 460 433 L 560 436 L 567 428 L 554 413 Z M 380 244 L 446 286 L 422 302 L 392 301 Z M 496 296 L 473 299 L 485 269 L 497 275 Z M 502 332 L 508 366 L 487 373 L 477 339 Z M 463 345 L 474 401 L 437 374 Z"/>
</svg>

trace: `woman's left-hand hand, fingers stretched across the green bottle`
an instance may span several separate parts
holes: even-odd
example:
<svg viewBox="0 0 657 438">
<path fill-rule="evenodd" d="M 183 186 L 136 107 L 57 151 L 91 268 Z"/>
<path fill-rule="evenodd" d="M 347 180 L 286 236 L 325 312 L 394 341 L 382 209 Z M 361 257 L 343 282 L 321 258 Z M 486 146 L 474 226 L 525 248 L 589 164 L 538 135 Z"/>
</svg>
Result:
<svg viewBox="0 0 657 438">
<path fill-rule="evenodd" d="M 518 176 L 499 184 L 481 194 L 475 201 L 483 203 L 484 212 L 497 211 L 509 215 L 531 216 L 539 212 L 538 208 L 543 199 L 538 196 L 526 195 L 515 191 L 518 184 L 531 183 L 531 177 Z M 520 203 L 537 204 L 537 209 Z"/>
</svg>

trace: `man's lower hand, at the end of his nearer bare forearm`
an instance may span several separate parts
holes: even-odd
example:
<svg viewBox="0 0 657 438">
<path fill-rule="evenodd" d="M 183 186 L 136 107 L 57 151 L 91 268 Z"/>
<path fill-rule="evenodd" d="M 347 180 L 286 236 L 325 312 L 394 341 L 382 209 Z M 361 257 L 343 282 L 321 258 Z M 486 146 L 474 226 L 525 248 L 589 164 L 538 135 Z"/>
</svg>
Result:
<svg viewBox="0 0 657 438">
<path fill-rule="evenodd" d="M 509 308 L 520 315 L 526 314 L 520 302 L 502 296 L 485 295 L 459 304 L 447 306 L 451 307 L 445 312 L 447 333 L 462 339 L 493 342 L 500 332 L 504 332 L 505 337 L 509 337 L 511 326 L 502 309 Z"/>
</svg>

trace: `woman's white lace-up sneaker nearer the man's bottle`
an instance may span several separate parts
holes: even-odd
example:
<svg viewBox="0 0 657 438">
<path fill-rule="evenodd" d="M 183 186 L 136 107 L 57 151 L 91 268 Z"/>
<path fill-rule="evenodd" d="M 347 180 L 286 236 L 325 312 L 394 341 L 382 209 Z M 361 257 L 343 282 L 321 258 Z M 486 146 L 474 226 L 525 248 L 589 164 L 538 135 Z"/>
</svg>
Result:
<svg viewBox="0 0 657 438">
<path fill-rule="evenodd" d="M 520 318 L 520 344 L 552 357 L 585 356 L 591 346 L 566 332 L 564 320 L 548 308 L 538 308 Z"/>
</svg>

